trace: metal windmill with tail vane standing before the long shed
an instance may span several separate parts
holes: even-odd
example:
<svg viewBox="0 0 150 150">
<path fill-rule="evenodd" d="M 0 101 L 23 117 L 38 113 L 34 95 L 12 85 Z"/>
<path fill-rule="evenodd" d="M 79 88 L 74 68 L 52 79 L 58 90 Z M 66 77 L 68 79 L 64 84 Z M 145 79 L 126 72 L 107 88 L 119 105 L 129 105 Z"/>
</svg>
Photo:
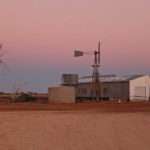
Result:
<svg viewBox="0 0 150 150">
<path fill-rule="evenodd" d="M 75 50 L 74 51 L 74 57 L 80 57 L 83 56 L 85 54 L 88 55 L 94 55 L 94 62 L 92 65 L 93 68 L 93 73 L 92 73 L 92 90 L 91 90 L 91 94 L 92 94 L 92 98 L 96 99 L 97 101 L 100 100 L 101 98 L 101 83 L 100 83 L 100 73 L 99 73 L 99 68 L 101 65 L 101 52 L 100 52 L 100 47 L 101 43 L 100 41 L 98 42 L 98 48 L 97 50 L 94 50 L 91 52 L 84 52 L 84 51 L 80 51 L 80 50 Z"/>
</svg>

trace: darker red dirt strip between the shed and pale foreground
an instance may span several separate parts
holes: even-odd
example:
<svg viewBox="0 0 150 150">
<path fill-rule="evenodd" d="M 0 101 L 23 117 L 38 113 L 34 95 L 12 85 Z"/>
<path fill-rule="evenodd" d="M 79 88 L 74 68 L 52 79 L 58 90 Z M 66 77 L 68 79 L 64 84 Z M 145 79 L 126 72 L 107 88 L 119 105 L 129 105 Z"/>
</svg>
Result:
<svg viewBox="0 0 150 150">
<path fill-rule="evenodd" d="M 86 102 L 77 104 L 0 104 L 0 111 L 49 110 L 49 111 L 99 111 L 99 112 L 150 112 L 150 102 Z"/>
</svg>

